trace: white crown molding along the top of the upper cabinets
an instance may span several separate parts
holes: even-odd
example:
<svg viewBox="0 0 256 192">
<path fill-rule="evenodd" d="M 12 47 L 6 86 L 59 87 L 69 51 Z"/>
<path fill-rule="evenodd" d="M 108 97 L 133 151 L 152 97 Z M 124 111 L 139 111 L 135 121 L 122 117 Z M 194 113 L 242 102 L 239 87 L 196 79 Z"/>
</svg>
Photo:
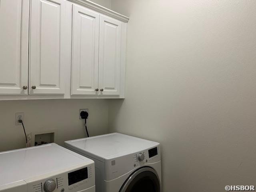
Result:
<svg viewBox="0 0 256 192">
<path fill-rule="evenodd" d="M 96 12 L 100 12 L 102 14 L 105 14 L 107 16 L 110 16 L 112 18 L 115 18 L 115 19 L 120 20 L 120 21 L 125 22 L 125 23 L 127 23 L 129 21 L 128 17 L 126 17 L 122 14 L 119 14 L 117 12 L 114 12 L 114 11 L 108 9 L 108 8 L 105 8 L 105 7 L 101 6 L 101 5 L 98 5 L 94 2 L 91 2 L 89 0 L 68 0 L 68 1 L 79 4 L 79 5 L 87 7 L 87 8 L 90 8 L 91 10 L 94 10 Z"/>
</svg>

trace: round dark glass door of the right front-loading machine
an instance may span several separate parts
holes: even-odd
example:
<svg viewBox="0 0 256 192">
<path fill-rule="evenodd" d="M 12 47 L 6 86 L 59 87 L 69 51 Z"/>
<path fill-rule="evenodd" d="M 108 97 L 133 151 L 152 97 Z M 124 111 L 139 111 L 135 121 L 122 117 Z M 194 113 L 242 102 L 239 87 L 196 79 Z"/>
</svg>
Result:
<svg viewBox="0 0 256 192">
<path fill-rule="evenodd" d="M 133 172 L 124 182 L 119 192 L 160 192 L 160 180 L 156 171 L 143 167 Z"/>
</svg>

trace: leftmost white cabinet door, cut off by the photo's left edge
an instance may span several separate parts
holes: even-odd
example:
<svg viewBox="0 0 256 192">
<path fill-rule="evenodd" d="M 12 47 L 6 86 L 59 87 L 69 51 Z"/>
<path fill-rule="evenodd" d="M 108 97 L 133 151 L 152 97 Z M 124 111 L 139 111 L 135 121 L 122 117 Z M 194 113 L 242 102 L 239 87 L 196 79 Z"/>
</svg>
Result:
<svg viewBox="0 0 256 192">
<path fill-rule="evenodd" d="M 0 0 L 0 94 L 28 94 L 29 0 Z"/>
</svg>

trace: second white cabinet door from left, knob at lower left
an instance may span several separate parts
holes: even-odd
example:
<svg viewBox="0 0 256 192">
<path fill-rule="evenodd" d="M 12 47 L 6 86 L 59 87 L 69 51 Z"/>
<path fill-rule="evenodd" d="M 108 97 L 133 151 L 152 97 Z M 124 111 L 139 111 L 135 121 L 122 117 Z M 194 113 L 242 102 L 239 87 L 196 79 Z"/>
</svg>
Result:
<svg viewBox="0 0 256 192">
<path fill-rule="evenodd" d="M 29 94 L 65 93 L 65 6 L 65 0 L 31 1 Z"/>
</svg>

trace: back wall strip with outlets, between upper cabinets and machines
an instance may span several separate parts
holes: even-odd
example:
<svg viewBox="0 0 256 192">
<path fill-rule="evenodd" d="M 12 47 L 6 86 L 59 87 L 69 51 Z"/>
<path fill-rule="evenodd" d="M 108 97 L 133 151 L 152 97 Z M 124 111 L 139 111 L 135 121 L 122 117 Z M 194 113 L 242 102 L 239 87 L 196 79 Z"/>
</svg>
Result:
<svg viewBox="0 0 256 192">
<path fill-rule="evenodd" d="M 107 100 L 60 99 L 0 101 L 0 151 L 26 147 L 21 125 L 15 125 L 15 113 L 24 112 L 27 134 L 42 130 L 57 130 L 57 144 L 86 137 L 84 120 L 79 109 L 89 109 L 87 120 L 90 136 L 108 132 Z"/>
</svg>

